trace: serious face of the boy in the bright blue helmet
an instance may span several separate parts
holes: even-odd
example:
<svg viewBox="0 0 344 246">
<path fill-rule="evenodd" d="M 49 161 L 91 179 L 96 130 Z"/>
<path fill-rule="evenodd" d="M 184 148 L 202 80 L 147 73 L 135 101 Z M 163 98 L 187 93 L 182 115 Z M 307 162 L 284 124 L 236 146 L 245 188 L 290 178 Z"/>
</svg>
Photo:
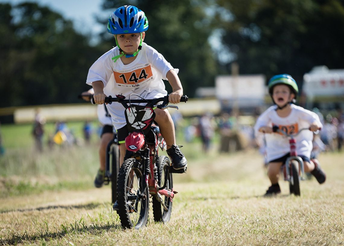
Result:
<svg viewBox="0 0 344 246">
<path fill-rule="evenodd" d="M 117 37 L 119 47 L 125 54 L 133 54 L 139 48 L 141 42 L 140 33 L 126 33 L 114 35 Z M 142 40 L 144 39 L 145 33 L 142 32 Z"/>
</svg>

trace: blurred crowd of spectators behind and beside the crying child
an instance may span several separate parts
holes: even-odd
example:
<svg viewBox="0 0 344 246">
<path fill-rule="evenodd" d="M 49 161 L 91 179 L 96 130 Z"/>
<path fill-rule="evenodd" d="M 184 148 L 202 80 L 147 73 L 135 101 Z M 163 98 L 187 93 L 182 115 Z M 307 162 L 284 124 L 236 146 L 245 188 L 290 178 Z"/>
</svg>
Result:
<svg viewBox="0 0 344 246">
<path fill-rule="evenodd" d="M 338 109 L 325 116 L 317 108 L 314 108 L 313 112 L 319 115 L 324 127 L 319 134 L 314 134 L 312 154 L 316 156 L 323 151 L 341 151 L 344 139 L 343 111 Z M 219 152 L 234 152 L 264 146 L 264 138 L 258 140 L 261 143 L 257 143 L 254 137 L 253 125 L 257 116 L 259 116 L 259 112 L 254 112 L 251 116 L 240 116 L 227 112 L 215 116 L 206 112 L 186 121 L 178 112 L 172 115 L 172 119 L 176 132 L 183 130 L 186 142 L 192 142 L 199 138 L 202 141 L 202 149 L 206 153 L 212 143 L 214 144 L 215 133 L 219 135 L 219 144 L 216 144 L 219 146 Z M 245 117 L 247 120 L 242 120 Z M 260 151 L 264 154 L 264 147 Z"/>
</svg>

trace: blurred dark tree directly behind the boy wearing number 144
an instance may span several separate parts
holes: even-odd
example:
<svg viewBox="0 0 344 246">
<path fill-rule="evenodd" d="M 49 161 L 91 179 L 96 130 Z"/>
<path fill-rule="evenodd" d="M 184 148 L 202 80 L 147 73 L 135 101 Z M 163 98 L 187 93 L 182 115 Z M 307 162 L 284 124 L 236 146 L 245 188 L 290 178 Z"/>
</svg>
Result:
<svg viewBox="0 0 344 246">
<path fill-rule="evenodd" d="M 109 16 L 125 4 L 132 4 L 143 10 L 149 23 L 144 41 L 158 50 L 174 68 L 179 68 L 178 75 L 184 94 L 193 96 L 199 86 L 214 86 L 214 76 L 217 74 L 216 56 L 208 43 L 212 34 L 212 26 L 206 13 L 209 2 L 211 1 L 104 0 L 103 9 Z M 102 39 L 111 48 L 116 45 L 115 39 L 106 32 L 107 20 L 103 23 Z M 168 83 L 166 90 L 171 92 Z"/>
</svg>

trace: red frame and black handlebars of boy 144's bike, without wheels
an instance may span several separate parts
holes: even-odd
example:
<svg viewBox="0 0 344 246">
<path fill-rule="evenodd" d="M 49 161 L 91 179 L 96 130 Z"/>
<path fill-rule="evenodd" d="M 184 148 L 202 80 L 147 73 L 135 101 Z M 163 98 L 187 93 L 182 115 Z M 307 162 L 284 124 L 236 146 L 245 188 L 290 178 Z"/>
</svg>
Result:
<svg viewBox="0 0 344 246">
<path fill-rule="evenodd" d="M 184 96 L 181 99 L 181 101 L 184 102 L 187 100 L 187 96 Z M 161 105 L 155 105 L 160 101 L 163 102 Z M 172 201 L 174 194 L 177 192 L 174 191 L 173 188 L 172 191 L 166 189 L 166 177 L 168 177 L 170 170 L 165 172 L 165 182 L 163 186 L 159 187 L 158 185 L 157 167 L 155 166 L 155 162 L 158 158 L 159 147 L 163 150 L 166 143 L 161 136 L 159 128 L 152 125 L 155 118 L 154 107 L 158 107 L 160 109 L 165 109 L 167 107 L 178 109 L 178 107 L 170 105 L 167 106 L 168 96 L 152 100 L 125 100 L 125 97 L 117 95 L 116 98 L 109 96 L 105 99 L 105 102 L 120 102 L 125 107 L 127 126 L 129 130 L 129 135 L 125 139 L 127 152 L 132 152 L 132 156 L 134 158 L 139 158 L 143 162 L 144 182 L 149 188 L 149 194 L 155 195 L 158 201 L 164 206 L 161 195 L 169 197 Z M 128 105 L 128 103 L 130 105 Z M 150 105 L 140 106 L 132 105 L 131 103 L 148 103 Z M 138 114 L 140 114 L 141 117 L 139 120 L 137 119 L 137 117 L 139 117 Z M 166 207 L 164 208 L 167 210 Z"/>
</svg>

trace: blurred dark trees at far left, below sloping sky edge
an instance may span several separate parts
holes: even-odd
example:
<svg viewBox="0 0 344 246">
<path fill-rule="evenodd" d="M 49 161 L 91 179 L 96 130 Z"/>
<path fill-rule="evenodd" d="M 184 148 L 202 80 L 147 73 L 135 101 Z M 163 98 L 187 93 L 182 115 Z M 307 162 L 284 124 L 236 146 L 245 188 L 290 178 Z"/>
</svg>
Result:
<svg viewBox="0 0 344 246">
<path fill-rule="evenodd" d="M 36 3 L 0 4 L 1 107 L 77 102 L 101 54 L 72 22 Z"/>
</svg>

